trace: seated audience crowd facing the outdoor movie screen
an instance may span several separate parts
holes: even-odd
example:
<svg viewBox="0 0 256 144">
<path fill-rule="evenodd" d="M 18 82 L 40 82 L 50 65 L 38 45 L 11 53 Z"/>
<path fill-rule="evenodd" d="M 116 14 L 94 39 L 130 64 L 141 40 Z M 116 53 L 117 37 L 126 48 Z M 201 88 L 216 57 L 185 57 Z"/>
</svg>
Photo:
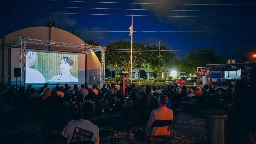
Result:
<svg viewBox="0 0 256 144">
<path fill-rule="evenodd" d="M 256 120 L 253 115 L 253 110 L 255 110 L 253 90 L 256 87 L 256 75 L 252 73 L 252 76 L 249 87 L 244 81 L 238 80 L 235 85 L 229 85 L 229 88 L 222 94 L 223 101 L 221 104 L 228 114 L 227 122 L 231 126 L 229 130 L 237 138 L 235 143 L 245 144 L 248 139 L 250 143 L 255 143 Z M 58 122 L 58 115 L 61 115 L 60 111 L 64 102 L 80 103 L 81 119 L 68 122 L 62 135 L 68 143 L 89 140 L 98 144 L 100 135 L 98 126 L 92 122 L 94 113 L 102 111 L 106 104 L 112 103 L 112 106 L 117 104 L 120 100 L 120 92 L 114 83 L 111 85 L 104 84 L 102 88 L 99 85 L 92 85 L 89 88 L 87 83 L 81 84 L 81 89 L 78 88 L 77 84 L 73 88 L 68 84 L 64 86 L 62 87 L 57 83 L 56 87 L 51 89 L 45 83 L 38 93 L 32 85 L 28 85 L 26 90 L 24 87 L 20 87 L 17 93 L 14 91 L 14 87 L 11 87 L 12 97 L 8 97 L 7 101 L 9 105 L 15 107 L 16 113 L 23 113 L 28 109 L 24 103 L 40 101 L 42 105 L 45 105 L 40 112 L 47 115 L 46 121 L 48 123 Z M 163 89 L 157 86 L 157 89 L 152 91 L 150 86 L 142 85 L 140 89 L 137 89 L 135 84 L 129 83 L 127 89 L 129 97 L 121 107 L 138 111 L 146 125 L 143 131 L 146 137 L 150 135 L 168 136 L 170 127 L 152 128 L 154 122 L 173 120 L 173 110 L 180 109 L 181 104 L 194 104 L 200 100 L 199 98 L 217 94 L 212 84 L 203 86 L 203 90 L 201 90 L 200 87 L 187 89 L 186 85 L 174 83 L 173 85 L 166 84 Z M 248 95 L 251 97 L 245 99 Z M 76 101 L 72 99 L 76 99 Z M 133 112 L 130 111 L 130 113 Z M 237 118 L 238 115 L 243 118 Z M 239 130 L 236 131 L 237 129 Z"/>
</svg>

